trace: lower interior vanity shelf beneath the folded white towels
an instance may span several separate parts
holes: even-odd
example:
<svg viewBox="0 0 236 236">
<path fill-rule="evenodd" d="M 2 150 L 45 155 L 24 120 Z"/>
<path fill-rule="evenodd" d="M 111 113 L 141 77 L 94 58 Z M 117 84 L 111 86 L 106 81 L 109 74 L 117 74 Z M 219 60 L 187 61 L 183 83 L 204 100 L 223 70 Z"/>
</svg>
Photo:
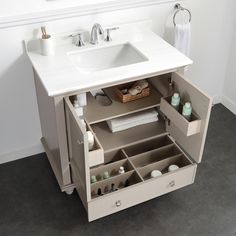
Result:
<svg viewBox="0 0 236 236">
<path fill-rule="evenodd" d="M 159 115 L 159 121 L 145 125 L 136 126 L 124 131 L 112 133 L 107 123 L 101 122 L 91 125 L 104 152 L 126 147 L 145 139 L 166 134 L 165 123 Z"/>
</svg>

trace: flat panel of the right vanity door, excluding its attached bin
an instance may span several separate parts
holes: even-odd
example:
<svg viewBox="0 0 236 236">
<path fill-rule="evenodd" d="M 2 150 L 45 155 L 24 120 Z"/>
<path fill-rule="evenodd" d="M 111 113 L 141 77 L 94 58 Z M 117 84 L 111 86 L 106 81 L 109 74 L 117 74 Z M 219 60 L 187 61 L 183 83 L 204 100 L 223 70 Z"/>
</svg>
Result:
<svg viewBox="0 0 236 236">
<path fill-rule="evenodd" d="M 178 73 L 172 74 L 172 81 L 174 83 L 175 90 L 180 93 L 181 99 L 184 102 L 191 102 L 194 112 L 201 120 L 201 124 L 200 132 L 191 136 L 186 136 L 186 134 L 180 130 L 173 119 L 170 121 L 170 125 L 168 127 L 170 135 L 189 156 L 191 156 L 196 162 L 200 163 L 205 145 L 212 99 Z"/>
</svg>

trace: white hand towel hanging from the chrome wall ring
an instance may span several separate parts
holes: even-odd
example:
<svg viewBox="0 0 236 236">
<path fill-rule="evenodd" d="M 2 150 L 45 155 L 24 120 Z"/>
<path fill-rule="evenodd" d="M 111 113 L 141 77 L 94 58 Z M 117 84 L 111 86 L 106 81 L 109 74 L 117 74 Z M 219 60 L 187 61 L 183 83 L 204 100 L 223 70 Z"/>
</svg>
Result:
<svg viewBox="0 0 236 236">
<path fill-rule="evenodd" d="M 184 55 L 190 54 L 191 27 L 190 23 L 175 25 L 175 48 Z"/>
</svg>

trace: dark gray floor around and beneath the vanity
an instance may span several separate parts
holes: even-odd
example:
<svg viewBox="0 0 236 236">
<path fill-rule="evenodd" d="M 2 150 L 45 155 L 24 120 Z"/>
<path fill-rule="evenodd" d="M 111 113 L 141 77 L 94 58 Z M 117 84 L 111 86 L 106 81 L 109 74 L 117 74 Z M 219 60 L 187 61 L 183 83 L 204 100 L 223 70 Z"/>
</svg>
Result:
<svg viewBox="0 0 236 236">
<path fill-rule="evenodd" d="M 0 235 L 236 235 L 236 116 L 214 107 L 195 184 L 92 223 L 45 154 L 0 165 L 0 191 Z"/>
</svg>

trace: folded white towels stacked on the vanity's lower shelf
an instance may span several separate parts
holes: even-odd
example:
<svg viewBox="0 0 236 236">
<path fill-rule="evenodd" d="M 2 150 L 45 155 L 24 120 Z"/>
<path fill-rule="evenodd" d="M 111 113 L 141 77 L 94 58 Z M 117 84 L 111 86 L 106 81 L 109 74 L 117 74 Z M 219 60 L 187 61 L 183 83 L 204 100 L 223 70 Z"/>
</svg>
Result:
<svg viewBox="0 0 236 236">
<path fill-rule="evenodd" d="M 107 125 L 112 133 L 114 133 L 155 121 L 158 121 L 158 112 L 153 108 L 147 111 L 141 111 L 131 115 L 108 120 Z"/>
</svg>

